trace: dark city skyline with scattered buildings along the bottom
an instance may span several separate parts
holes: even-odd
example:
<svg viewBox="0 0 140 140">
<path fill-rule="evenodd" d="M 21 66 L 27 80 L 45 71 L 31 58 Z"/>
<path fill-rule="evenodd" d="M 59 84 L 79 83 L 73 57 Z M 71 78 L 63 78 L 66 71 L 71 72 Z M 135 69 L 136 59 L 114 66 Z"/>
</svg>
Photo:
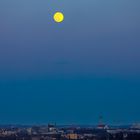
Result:
<svg viewBox="0 0 140 140">
<path fill-rule="evenodd" d="M 8 126 L 0 128 L 0 140 L 140 140 L 139 126 Z"/>
</svg>

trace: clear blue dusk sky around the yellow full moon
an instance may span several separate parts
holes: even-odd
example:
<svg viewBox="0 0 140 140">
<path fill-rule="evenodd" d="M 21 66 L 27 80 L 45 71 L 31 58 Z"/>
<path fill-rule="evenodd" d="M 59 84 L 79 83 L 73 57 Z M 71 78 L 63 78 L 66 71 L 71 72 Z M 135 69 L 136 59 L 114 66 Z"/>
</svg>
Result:
<svg viewBox="0 0 140 140">
<path fill-rule="evenodd" d="M 1 0 L 0 123 L 140 122 L 139 6 Z"/>
</svg>

